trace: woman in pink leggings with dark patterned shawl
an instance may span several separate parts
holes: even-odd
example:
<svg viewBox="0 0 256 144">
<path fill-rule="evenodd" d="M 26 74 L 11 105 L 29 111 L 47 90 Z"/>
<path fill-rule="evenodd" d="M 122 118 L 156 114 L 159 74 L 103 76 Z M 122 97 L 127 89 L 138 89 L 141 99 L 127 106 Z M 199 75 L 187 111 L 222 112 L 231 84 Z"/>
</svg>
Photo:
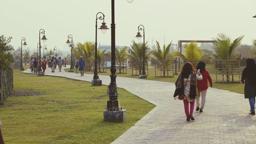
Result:
<svg viewBox="0 0 256 144">
<path fill-rule="evenodd" d="M 203 77 L 199 72 L 194 73 L 193 65 L 191 63 L 185 63 L 178 79 L 176 80 L 174 98 L 176 99 L 178 97 L 180 100 L 183 100 L 187 121 L 190 121 L 190 119 L 195 120 L 193 112 L 197 96 L 197 80 L 202 79 Z"/>
</svg>

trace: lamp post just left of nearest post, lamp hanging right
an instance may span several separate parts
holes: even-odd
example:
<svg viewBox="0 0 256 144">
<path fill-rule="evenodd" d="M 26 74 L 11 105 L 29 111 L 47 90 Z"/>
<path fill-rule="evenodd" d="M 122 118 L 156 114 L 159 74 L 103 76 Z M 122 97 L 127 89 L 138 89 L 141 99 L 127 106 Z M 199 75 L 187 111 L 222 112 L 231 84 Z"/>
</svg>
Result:
<svg viewBox="0 0 256 144">
<path fill-rule="evenodd" d="M 102 15 L 102 16 L 98 16 L 98 15 Z M 92 86 L 101 86 L 102 85 L 102 81 L 99 79 L 99 76 L 98 76 L 98 65 L 97 65 L 97 21 L 99 20 L 102 20 L 103 19 L 103 23 L 102 25 L 100 26 L 100 30 L 102 31 L 102 33 L 105 33 L 107 29 L 109 29 L 107 26 L 106 26 L 106 23 L 104 22 L 105 21 L 105 15 L 102 13 L 102 12 L 98 12 L 96 14 L 96 20 L 95 20 L 95 60 L 94 60 L 94 76 L 93 76 L 93 80 L 92 80 Z"/>
</svg>

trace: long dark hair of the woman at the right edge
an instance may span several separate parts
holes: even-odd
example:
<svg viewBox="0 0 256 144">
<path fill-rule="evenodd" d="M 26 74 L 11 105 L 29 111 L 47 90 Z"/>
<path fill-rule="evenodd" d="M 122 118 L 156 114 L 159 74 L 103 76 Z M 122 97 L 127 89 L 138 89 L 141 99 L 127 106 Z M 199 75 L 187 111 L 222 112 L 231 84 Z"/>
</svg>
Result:
<svg viewBox="0 0 256 144">
<path fill-rule="evenodd" d="M 253 58 L 246 59 L 246 67 L 244 68 L 243 73 L 246 75 L 250 84 L 256 86 L 256 64 Z"/>
</svg>

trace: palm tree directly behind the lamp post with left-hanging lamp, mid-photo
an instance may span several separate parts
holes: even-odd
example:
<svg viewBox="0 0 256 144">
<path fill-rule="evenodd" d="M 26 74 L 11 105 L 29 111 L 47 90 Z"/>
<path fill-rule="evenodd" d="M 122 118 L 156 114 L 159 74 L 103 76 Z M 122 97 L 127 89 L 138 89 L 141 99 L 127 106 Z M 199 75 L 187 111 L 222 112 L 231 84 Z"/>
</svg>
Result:
<svg viewBox="0 0 256 144">
<path fill-rule="evenodd" d="M 133 40 L 133 45 L 131 45 L 131 48 L 129 49 L 130 51 L 130 56 L 129 59 L 131 61 L 138 61 L 138 66 L 139 66 L 139 74 L 141 74 L 142 70 L 142 60 L 143 60 L 143 43 L 136 43 Z M 149 58 L 150 55 L 150 47 L 147 45 L 147 42 L 145 43 L 145 61 Z"/>
</svg>

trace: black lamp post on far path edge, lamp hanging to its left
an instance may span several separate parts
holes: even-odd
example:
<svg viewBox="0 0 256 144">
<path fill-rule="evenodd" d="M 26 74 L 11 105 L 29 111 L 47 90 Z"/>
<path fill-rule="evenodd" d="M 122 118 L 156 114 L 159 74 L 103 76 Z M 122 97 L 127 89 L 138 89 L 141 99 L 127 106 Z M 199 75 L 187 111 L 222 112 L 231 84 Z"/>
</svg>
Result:
<svg viewBox="0 0 256 144">
<path fill-rule="evenodd" d="M 138 40 L 141 39 L 140 31 L 143 30 L 143 54 L 142 54 L 142 75 L 139 75 L 140 78 L 146 78 L 146 72 L 145 72 L 145 28 L 143 25 L 139 25 L 138 27 L 138 33 L 135 37 L 137 37 Z"/>
</svg>

